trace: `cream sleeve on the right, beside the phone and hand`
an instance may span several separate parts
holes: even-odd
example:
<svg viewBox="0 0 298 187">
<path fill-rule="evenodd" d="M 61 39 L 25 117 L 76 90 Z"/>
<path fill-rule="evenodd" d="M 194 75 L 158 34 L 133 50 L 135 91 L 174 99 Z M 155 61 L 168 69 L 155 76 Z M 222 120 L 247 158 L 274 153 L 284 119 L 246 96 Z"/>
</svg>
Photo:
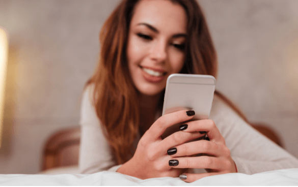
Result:
<svg viewBox="0 0 298 187">
<path fill-rule="evenodd" d="M 298 160 L 293 155 L 252 128 L 215 95 L 210 119 L 225 138 L 239 173 L 298 168 Z"/>
</svg>

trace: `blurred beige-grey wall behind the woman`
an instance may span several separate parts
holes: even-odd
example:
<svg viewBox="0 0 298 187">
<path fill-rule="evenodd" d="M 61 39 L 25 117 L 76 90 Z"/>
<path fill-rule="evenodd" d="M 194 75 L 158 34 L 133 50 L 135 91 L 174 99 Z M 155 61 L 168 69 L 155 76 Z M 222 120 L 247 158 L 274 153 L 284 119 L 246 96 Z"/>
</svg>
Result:
<svg viewBox="0 0 298 187">
<path fill-rule="evenodd" d="M 0 0 L 10 36 L 0 173 L 33 174 L 54 132 L 77 127 L 98 33 L 119 0 Z M 199 0 L 219 57 L 216 88 L 298 157 L 298 1 Z"/>
</svg>

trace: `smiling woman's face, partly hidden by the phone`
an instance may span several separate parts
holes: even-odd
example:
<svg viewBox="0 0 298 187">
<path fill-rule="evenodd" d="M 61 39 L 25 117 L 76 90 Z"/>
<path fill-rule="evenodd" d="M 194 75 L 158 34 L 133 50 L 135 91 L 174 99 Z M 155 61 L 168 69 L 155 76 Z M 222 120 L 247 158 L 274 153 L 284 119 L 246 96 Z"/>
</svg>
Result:
<svg viewBox="0 0 298 187">
<path fill-rule="evenodd" d="M 144 95 L 157 95 L 181 71 L 186 27 L 184 9 L 168 0 L 142 0 L 134 8 L 126 52 L 134 86 Z"/>
</svg>

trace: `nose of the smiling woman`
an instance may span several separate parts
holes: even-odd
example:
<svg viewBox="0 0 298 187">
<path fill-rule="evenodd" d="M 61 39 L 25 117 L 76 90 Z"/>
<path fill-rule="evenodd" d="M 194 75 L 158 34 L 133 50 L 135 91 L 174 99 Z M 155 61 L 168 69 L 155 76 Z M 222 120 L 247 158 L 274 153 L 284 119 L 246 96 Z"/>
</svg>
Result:
<svg viewBox="0 0 298 187">
<path fill-rule="evenodd" d="M 167 44 L 164 41 L 157 41 L 151 49 L 151 59 L 162 62 L 167 59 Z"/>
</svg>

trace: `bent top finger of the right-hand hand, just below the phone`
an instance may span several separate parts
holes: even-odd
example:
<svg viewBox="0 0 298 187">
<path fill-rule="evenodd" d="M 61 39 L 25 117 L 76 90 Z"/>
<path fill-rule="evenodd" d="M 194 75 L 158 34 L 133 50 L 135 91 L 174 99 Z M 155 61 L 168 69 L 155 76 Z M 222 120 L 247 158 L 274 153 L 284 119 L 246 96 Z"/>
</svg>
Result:
<svg viewBox="0 0 298 187">
<path fill-rule="evenodd" d="M 206 132 L 210 141 L 225 144 L 225 139 L 212 119 L 202 119 L 187 122 L 187 129 L 183 132 Z"/>
</svg>

